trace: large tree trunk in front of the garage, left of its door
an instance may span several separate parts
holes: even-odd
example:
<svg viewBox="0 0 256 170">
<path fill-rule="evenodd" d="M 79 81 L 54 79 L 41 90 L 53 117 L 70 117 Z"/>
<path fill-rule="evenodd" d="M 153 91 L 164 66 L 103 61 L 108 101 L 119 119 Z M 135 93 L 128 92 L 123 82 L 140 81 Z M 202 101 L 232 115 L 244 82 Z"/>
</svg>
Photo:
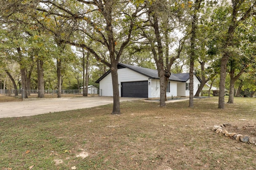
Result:
<svg viewBox="0 0 256 170">
<path fill-rule="evenodd" d="M 111 76 L 112 76 L 112 87 L 113 87 L 113 115 L 119 115 L 120 113 L 120 97 L 119 97 L 119 86 L 118 86 L 118 72 L 117 64 L 114 61 L 111 62 Z"/>
</svg>

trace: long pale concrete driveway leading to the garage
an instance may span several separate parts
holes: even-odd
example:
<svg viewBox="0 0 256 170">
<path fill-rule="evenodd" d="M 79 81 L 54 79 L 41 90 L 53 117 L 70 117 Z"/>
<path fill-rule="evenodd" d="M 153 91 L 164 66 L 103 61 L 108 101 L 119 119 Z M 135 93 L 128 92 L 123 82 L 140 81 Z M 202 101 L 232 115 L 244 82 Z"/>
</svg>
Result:
<svg viewBox="0 0 256 170">
<path fill-rule="evenodd" d="M 129 100 L 143 100 L 142 98 L 120 98 L 120 102 Z M 24 102 L 0 103 L 0 118 L 22 117 L 39 115 L 44 113 L 84 109 L 113 103 L 112 97 L 83 97 L 83 98 L 61 98 L 50 100 L 35 100 Z"/>
</svg>

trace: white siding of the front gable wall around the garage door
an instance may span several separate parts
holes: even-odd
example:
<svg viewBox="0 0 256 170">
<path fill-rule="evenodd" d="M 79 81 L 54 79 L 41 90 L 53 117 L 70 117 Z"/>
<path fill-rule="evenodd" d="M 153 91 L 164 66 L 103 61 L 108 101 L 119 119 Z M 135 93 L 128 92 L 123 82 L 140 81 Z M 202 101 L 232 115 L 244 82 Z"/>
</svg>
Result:
<svg viewBox="0 0 256 170">
<path fill-rule="evenodd" d="M 139 74 L 137 72 L 134 72 L 129 68 L 118 69 L 118 84 L 120 84 L 119 95 L 121 96 L 121 82 L 136 82 L 136 81 L 148 81 L 148 77 L 143 76 L 142 74 Z M 102 96 L 113 96 L 111 73 L 109 73 L 106 77 L 104 77 L 100 81 L 100 89 L 102 89 Z"/>
</svg>

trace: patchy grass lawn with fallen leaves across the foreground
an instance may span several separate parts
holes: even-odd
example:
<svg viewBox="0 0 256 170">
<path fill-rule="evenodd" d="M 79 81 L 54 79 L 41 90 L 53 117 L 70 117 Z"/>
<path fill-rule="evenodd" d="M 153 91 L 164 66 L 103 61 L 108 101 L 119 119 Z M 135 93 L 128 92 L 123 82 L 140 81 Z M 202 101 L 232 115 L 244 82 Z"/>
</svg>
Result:
<svg viewBox="0 0 256 170">
<path fill-rule="evenodd" d="M 226 98 L 227 99 L 227 98 Z M 122 102 L 88 109 L 0 119 L 0 170 L 256 169 L 256 145 L 212 131 L 256 137 L 256 98 L 168 103 Z"/>
</svg>

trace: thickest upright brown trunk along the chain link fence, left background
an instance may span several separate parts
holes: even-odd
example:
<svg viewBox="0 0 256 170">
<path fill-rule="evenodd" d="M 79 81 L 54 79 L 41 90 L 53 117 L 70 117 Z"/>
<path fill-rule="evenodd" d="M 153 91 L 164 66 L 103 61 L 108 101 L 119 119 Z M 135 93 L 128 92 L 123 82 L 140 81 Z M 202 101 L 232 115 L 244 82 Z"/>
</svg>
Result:
<svg viewBox="0 0 256 170">
<path fill-rule="evenodd" d="M 42 60 L 37 60 L 37 83 L 38 83 L 38 98 L 44 98 L 44 63 Z"/>
</svg>

